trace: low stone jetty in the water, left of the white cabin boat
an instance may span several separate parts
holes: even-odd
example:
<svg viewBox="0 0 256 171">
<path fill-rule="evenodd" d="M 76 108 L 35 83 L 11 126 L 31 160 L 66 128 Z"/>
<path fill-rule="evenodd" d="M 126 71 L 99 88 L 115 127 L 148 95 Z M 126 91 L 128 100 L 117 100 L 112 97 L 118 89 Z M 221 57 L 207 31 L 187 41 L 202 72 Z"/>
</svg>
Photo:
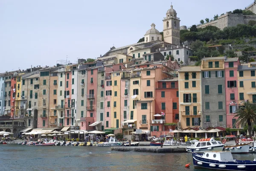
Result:
<svg viewBox="0 0 256 171">
<path fill-rule="evenodd" d="M 137 147 L 111 147 L 111 151 L 136 151 L 148 153 L 187 153 L 186 146 L 137 146 Z"/>
</svg>

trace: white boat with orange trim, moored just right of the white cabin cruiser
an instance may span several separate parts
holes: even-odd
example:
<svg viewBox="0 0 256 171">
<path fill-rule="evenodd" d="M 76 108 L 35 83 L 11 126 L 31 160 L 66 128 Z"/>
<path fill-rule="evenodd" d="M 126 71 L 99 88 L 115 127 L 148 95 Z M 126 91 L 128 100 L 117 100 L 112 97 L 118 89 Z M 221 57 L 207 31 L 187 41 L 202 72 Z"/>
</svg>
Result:
<svg viewBox="0 0 256 171">
<path fill-rule="evenodd" d="M 237 154 L 248 154 L 250 143 L 247 144 L 239 144 L 239 139 L 235 135 L 227 135 L 222 140 L 222 143 L 224 143 L 224 150 L 230 151 L 231 153 L 237 153 Z"/>
</svg>

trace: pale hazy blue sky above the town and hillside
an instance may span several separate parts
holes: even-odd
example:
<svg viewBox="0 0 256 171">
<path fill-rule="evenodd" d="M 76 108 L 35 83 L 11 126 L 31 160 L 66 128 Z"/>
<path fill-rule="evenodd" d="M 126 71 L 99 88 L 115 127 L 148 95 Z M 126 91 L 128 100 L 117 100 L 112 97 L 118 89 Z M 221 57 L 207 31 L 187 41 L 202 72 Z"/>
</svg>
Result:
<svg viewBox="0 0 256 171">
<path fill-rule="evenodd" d="M 0 72 L 75 63 L 137 43 L 151 23 L 163 30 L 171 2 L 180 26 L 191 26 L 253 0 L 0 0 Z"/>
</svg>

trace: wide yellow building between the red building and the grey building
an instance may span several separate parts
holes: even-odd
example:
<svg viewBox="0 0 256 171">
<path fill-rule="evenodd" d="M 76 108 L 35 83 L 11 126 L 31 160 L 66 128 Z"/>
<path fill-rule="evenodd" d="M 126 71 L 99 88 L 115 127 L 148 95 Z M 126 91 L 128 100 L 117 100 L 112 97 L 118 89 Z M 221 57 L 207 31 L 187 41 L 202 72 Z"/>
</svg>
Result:
<svg viewBox="0 0 256 171">
<path fill-rule="evenodd" d="M 182 67 L 179 71 L 179 122 L 181 129 L 200 126 L 201 101 L 201 68 Z"/>
</svg>

